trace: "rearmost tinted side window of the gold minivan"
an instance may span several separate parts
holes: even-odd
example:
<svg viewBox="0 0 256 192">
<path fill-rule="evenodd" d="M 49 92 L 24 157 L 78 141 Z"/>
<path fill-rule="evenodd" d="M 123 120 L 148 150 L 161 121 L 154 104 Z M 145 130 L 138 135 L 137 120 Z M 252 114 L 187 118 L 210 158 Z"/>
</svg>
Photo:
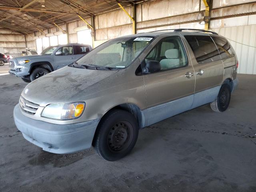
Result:
<svg viewBox="0 0 256 192">
<path fill-rule="evenodd" d="M 226 39 L 214 36 L 212 36 L 212 39 L 214 40 L 222 59 L 228 59 L 235 56 L 233 48 Z"/>
</svg>

